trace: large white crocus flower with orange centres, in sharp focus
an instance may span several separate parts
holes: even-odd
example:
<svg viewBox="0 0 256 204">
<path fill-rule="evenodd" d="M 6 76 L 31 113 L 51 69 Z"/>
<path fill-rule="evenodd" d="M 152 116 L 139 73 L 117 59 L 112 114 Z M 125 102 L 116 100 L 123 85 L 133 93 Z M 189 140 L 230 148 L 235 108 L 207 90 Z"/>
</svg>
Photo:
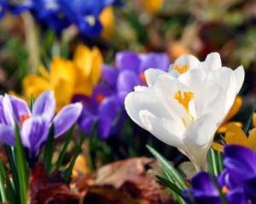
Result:
<svg viewBox="0 0 256 204">
<path fill-rule="evenodd" d="M 148 87 L 136 87 L 125 98 L 131 119 L 155 137 L 177 147 L 197 170 L 205 167 L 214 133 L 230 111 L 244 81 L 244 70 L 221 65 L 212 53 L 200 62 L 178 58 L 171 71 L 145 72 Z"/>
</svg>

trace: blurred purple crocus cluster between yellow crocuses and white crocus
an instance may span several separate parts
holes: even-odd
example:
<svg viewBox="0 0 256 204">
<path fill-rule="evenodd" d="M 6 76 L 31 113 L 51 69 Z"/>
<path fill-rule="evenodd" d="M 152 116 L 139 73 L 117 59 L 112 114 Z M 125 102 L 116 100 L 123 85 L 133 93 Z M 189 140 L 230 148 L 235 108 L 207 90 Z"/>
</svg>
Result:
<svg viewBox="0 0 256 204">
<path fill-rule="evenodd" d="M 125 121 L 124 99 L 137 85 L 145 85 L 144 71 L 157 68 L 167 71 L 169 58 L 166 54 L 137 54 L 122 51 L 116 55 L 114 66 L 103 65 L 102 82 L 92 96 L 76 95 L 74 102 L 83 101 L 84 109 L 79 125 L 84 132 L 90 132 L 93 124 L 97 126 L 100 139 L 107 139 L 119 132 Z"/>
</svg>

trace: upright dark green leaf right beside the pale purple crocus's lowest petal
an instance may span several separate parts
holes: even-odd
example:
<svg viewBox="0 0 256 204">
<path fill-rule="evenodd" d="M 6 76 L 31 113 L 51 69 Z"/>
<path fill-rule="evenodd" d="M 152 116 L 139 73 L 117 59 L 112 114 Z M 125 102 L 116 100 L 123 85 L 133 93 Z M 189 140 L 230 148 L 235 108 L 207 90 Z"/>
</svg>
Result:
<svg viewBox="0 0 256 204">
<path fill-rule="evenodd" d="M 48 173 L 50 173 L 52 168 L 52 157 L 54 153 L 54 137 L 55 137 L 55 127 L 52 124 L 49 129 L 47 141 L 45 144 L 45 150 L 44 150 L 44 164 L 45 164 L 45 169 Z"/>
</svg>

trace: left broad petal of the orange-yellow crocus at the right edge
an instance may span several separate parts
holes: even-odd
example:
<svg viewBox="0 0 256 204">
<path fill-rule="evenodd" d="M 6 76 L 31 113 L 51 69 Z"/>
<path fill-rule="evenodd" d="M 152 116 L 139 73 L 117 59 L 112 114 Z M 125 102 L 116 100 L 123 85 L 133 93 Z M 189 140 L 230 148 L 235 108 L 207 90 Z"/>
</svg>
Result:
<svg viewBox="0 0 256 204">
<path fill-rule="evenodd" d="M 236 126 L 234 123 L 230 123 L 227 126 L 225 141 L 227 144 L 240 144 L 247 146 L 247 136 L 243 133 L 241 128 Z"/>
</svg>

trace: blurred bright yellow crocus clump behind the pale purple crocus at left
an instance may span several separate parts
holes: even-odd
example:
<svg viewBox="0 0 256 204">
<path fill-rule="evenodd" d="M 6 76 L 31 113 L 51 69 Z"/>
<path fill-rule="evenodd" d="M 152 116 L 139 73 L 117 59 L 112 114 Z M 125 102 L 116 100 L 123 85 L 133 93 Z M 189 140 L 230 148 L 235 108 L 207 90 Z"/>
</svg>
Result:
<svg viewBox="0 0 256 204">
<path fill-rule="evenodd" d="M 67 105 L 75 94 L 90 96 L 102 76 L 102 54 L 98 48 L 79 45 L 73 61 L 54 58 L 50 71 L 39 69 L 40 75 L 27 75 L 23 81 L 26 98 L 37 97 L 45 90 L 54 90 L 57 111 Z"/>
</svg>

